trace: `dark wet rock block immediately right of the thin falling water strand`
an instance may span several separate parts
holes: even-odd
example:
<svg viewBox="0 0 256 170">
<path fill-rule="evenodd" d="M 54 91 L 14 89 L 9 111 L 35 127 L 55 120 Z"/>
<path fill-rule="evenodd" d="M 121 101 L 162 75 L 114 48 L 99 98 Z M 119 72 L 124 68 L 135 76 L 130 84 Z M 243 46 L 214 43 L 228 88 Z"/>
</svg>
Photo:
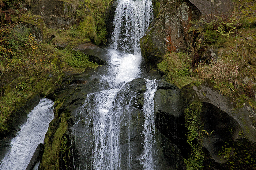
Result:
<svg viewBox="0 0 256 170">
<path fill-rule="evenodd" d="M 164 80 L 159 80 L 154 97 L 155 128 L 168 138 L 182 154 L 187 152 L 187 129 L 184 126 L 185 103 L 180 89 Z"/>
</svg>

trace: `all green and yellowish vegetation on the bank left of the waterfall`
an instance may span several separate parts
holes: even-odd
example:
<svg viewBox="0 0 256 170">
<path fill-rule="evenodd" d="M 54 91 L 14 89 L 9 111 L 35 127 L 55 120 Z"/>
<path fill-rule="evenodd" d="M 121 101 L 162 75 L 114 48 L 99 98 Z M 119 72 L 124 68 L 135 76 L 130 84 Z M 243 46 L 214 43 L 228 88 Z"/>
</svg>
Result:
<svg viewBox="0 0 256 170">
<path fill-rule="evenodd" d="M 47 28 L 41 16 L 26 11 L 24 3 L 32 1 L 0 0 L 0 134 L 10 130 L 8 122 L 26 100 L 36 94 L 52 95 L 65 72 L 97 67 L 89 56 L 71 49 L 90 40 L 106 42 L 103 14 L 112 0 L 67 1 L 69 15 L 79 23 L 64 30 Z M 56 47 L 69 41 L 64 50 Z"/>
</svg>

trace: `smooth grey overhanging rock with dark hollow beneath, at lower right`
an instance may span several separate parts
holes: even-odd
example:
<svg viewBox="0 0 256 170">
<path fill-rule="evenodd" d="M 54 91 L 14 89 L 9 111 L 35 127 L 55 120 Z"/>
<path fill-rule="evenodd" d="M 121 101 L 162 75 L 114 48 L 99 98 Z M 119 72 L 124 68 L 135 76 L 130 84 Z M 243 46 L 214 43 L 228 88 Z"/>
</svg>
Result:
<svg viewBox="0 0 256 170">
<path fill-rule="evenodd" d="M 218 156 L 218 151 L 225 143 L 235 143 L 246 138 L 255 145 L 256 114 L 248 103 L 244 103 L 243 108 L 236 108 L 229 99 L 208 83 L 199 87 L 189 84 L 182 88 L 181 96 L 186 103 L 192 101 L 203 103 L 200 115 L 203 129 L 208 133 L 214 131 L 210 136 L 205 135 L 203 146 L 216 162 L 226 161 Z"/>
</svg>

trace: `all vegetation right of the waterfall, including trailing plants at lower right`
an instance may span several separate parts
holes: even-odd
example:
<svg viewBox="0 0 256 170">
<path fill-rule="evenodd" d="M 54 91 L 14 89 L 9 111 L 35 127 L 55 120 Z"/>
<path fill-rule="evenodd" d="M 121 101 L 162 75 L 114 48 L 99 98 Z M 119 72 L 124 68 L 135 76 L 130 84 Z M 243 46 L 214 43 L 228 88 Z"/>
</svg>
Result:
<svg viewBox="0 0 256 170">
<path fill-rule="evenodd" d="M 212 13 L 192 20 L 193 26 L 189 31 L 193 40 L 187 51 L 162 56 L 157 67 L 166 81 L 179 88 L 191 82 L 195 85 L 207 81 L 230 97 L 237 108 L 244 107 L 247 101 L 255 109 L 256 3 L 255 0 L 233 2 L 234 10 L 229 16 Z M 187 169 L 203 169 L 203 165 L 214 168 L 210 165 L 211 156 L 202 148 L 203 137 L 210 136 L 212 132 L 202 129 L 201 107 L 202 103 L 195 101 L 185 109 L 187 142 L 191 146 L 191 153 L 185 159 Z M 246 139 L 230 143 L 219 152 L 219 156 L 227 160 L 221 166 L 227 169 L 255 169 L 255 159 L 252 159 L 254 144 Z M 241 143 L 247 143 L 244 146 L 250 145 L 252 149 L 244 149 Z"/>
</svg>

